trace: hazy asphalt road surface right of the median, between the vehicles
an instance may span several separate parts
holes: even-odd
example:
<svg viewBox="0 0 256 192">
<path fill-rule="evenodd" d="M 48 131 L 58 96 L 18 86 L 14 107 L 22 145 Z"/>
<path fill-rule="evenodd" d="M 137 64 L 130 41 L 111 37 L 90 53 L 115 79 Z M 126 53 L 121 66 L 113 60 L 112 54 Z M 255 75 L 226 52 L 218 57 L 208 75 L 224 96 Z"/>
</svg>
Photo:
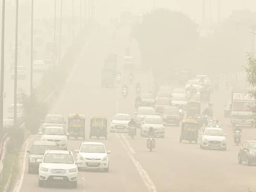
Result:
<svg viewBox="0 0 256 192">
<path fill-rule="evenodd" d="M 27 174 L 26 166 L 20 192 L 246 192 L 247 188 L 256 191 L 256 166 L 237 163 L 239 146 L 234 145 L 230 121 L 223 114 L 223 105 L 230 94 L 221 87 L 214 92 L 211 102 L 214 104 L 214 116 L 220 119 L 228 134 L 227 151 L 203 150 L 199 144 L 180 143 L 181 128 L 174 126 L 165 127 L 165 138 L 156 138 L 156 148 L 152 152 L 145 146 L 147 138 L 140 136 L 131 139 L 127 134 L 109 133 L 107 140 L 88 139 L 91 116 L 104 115 L 110 121 L 116 112 L 131 115 L 134 112 L 135 85 L 129 85 L 128 98 L 121 97 L 121 85 L 115 88 L 100 87 L 101 68 L 106 55 L 112 51 L 123 55 L 128 43 L 126 34 L 119 34 L 115 41 L 112 41 L 111 34 L 112 31 L 105 28 L 95 34 L 74 70 L 63 97 L 53 107 L 54 112 L 64 117 L 71 113 L 86 115 L 85 140 L 104 142 L 106 148 L 112 151 L 109 155 L 109 172 L 79 172 L 77 189 L 59 186 L 39 188 L 38 175 Z M 140 53 L 134 52 L 134 55 L 139 61 Z M 142 91 L 147 83 L 145 76 L 142 71 L 135 74 L 135 82 L 141 82 Z M 255 129 L 244 128 L 242 139 L 255 137 Z M 39 136 L 35 139 L 39 139 Z M 73 151 L 81 142 L 69 140 L 68 148 Z"/>
</svg>

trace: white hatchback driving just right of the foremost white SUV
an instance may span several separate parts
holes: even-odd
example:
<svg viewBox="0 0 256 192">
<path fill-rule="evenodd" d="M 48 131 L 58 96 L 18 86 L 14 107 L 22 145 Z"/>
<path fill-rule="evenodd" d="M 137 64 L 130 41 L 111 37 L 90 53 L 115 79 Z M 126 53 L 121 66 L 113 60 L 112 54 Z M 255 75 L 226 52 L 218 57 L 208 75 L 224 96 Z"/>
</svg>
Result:
<svg viewBox="0 0 256 192">
<path fill-rule="evenodd" d="M 105 172 L 109 171 L 109 158 L 105 145 L 100 142 L 82 142 L 79 149 L 76 162 L 78 168 L 83 169 L 103 169 Z"/>
</svg>

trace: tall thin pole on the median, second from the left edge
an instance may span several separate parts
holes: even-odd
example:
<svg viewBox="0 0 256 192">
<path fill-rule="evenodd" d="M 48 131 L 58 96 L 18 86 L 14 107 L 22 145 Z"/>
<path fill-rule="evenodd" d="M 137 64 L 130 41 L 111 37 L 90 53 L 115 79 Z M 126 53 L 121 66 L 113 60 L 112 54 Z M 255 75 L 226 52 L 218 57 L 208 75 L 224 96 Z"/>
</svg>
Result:
<svg viewBox="0 0 256 192">
<path fill-rule="evenodd" d="M 17 128 L 18 16 L 19 16 L 19 0 L 16 0 L 15 62 L 14 62 L 14 114 L 13 114 L 13 125 L 14 125 L 14 128 Z"/>
</svg>

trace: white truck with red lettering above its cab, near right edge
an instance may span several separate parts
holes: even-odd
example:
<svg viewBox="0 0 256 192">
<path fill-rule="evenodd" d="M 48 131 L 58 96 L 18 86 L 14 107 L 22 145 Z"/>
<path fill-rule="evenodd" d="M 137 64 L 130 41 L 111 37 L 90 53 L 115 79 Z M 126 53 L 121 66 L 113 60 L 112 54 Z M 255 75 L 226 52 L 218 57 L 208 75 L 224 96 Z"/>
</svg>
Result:
<svg viewBox="0 0 256 192">
<path fill-rule="evenodd" d="M 253 127 L 252 109 L 255 107 L 255 98 L 248 90 L 233 89 L 231 93 L 231 123 Z"/>
</svg>

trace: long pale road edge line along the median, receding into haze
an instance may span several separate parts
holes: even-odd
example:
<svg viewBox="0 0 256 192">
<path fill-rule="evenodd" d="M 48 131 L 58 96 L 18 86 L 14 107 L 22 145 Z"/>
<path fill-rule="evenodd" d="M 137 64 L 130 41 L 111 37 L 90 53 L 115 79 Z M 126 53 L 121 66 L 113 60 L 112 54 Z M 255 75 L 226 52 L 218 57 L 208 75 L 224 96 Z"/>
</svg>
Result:
<svg viewBox="0 0 256 192">
<path fill-rule="evenodd" d="M 92 38 L 95 36 L 95 34 L 96 34 L 96 33 L 92 33 L 92 36 L 91 36 L 91 37 L 89 38 L 89 40 L 86 42 L 86 44 L 85 44 L 83 50 L 81 51 L 81 53 L 80 53 L 80 55 L 79 55 L 79 59 L 76 61 L 75 67 L 73 67 L 73 70 L 72 70 L 72 72 L 70 73 L 70 75 L 69 75 L 69 77 L 68 77 L 68 79 L 67 79 L 67 81 L 66 81 L 66 85 L 65 85 L 64 91 L 62 92 L 61 97 L 60 97 L 60 99 L 59 99 L 57 105 L 55 106 L 53 112 L 56 112 L 56 110 L 59 108 L 59 105 L 60 105 L 60 103 L 62 102 L 62 100 L 63 100 L 63 98 L 64 98 L 64 95 L 65 95 L 65 93 L 66 93 L 66 90 L 67 90 L 67 88 L 68 88 L 68 84 L 69 84 L 71 78 L 73 77 L 73 74 L 75 73 L 76 68 L 78 67 L 78 64 L 79 64 L 80 61 L 82 60 L 83 53 L 85 52 L 85 49 L 87 48 L 88 44 L 91 42 L 91 40 L 92 40 Z"/>
</svg>

